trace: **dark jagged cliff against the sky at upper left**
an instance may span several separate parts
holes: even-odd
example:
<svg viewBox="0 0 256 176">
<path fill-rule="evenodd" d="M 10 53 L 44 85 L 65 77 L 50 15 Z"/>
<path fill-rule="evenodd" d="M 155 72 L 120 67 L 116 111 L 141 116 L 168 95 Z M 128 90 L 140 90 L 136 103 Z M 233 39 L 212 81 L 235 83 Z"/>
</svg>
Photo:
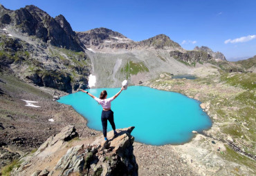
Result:
<svg viewBox="0 0 256 176">
<path fill-rule="evenodd" d="M 19 10 L 7 10 L 0 6 L 1 26 L 12 26 L 28 36 L 35 36 L 53 46 L 82 51 L 80 41 L 66 19 L 59 15 L 51 17 L 36 6 Z"/>
</svg>

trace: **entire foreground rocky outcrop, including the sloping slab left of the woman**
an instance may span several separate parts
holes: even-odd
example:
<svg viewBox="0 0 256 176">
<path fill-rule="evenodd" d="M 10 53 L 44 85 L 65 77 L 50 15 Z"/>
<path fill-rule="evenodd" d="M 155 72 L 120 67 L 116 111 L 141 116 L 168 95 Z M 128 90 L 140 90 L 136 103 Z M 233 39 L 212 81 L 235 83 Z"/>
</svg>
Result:
<svg viewBox="0 0 256 176">
<path fill-rule="evenodd" d="M 36 153 L 21 158 L 21 166 L 12 175 L 138 175 L 133 129 L 119 129 L 116 137 L 109 132 L 109 141 L 98 137 L 91 144 L 80 141 L 77 146 L 69 146 L 77 133 L 74 126 L 66 126 L 49 137 Z"/>
</svg>

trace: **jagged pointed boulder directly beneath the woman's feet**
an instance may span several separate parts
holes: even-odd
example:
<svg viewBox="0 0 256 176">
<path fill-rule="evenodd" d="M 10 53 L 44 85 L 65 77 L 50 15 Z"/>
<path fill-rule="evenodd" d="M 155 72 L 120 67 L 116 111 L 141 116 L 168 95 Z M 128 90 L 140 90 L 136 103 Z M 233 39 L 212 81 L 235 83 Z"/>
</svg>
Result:
<svg viewBox="0 0 256 176">
<path fill-rule="evenodd" d="M 119 135 L 111 141 L 99 144 L 96 139 L 90 146 L 70 148 L 51 172 L 61 175 L 80 173 L 82 175 L 138 175 L 138 165 L 133 154 L 134 127 L 120 129 Z"/>
</svg>

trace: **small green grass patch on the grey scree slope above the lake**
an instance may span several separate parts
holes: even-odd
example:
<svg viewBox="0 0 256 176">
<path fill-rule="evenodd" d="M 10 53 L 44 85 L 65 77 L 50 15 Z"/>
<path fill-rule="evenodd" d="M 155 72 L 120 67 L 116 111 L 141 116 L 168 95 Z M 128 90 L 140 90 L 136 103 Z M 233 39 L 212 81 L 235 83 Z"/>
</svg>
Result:
<svg viewBox="0 0 256 176">
<path fill-rule="evenodd" d="M 121 68 L 121 72 L 129 73 L 131 75 L 137 75 L 138 72 L 149 72 L 149 69 L 143 62 L 129 61 L 124 68 Z"/>
</svg>

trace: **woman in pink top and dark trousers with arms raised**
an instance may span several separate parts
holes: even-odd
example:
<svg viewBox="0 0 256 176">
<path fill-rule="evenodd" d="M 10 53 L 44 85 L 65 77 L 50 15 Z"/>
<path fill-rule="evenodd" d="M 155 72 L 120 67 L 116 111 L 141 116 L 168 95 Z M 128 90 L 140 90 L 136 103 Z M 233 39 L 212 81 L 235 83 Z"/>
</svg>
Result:
<svg viewBox="0 0 256 176">
<path fill-rule="evenodd" d="M 122 87 L 121 90 L 116 95 L 108 99 L 107 99 L 106 90 L 102 90 L 102 92 L 100 92 L 100 98 L 97 98 L 94 95 L 91 95 L 87 91 L 81 90 L 82 92 L 85 92 L 86 94 L 90 95 L 93 99 L 95 99 L 103 108 L 102 114 L 101 114 L 101 121 L 102 121 L 103 135 L 106 141 L 107 141 L 107 120 L 109 120 L 109 123 L 113 128 L 113 134 L 117 135 L 116 125 L 115 125 L 115 122 L 113 121 L 113 111 L 111 110 L 111 101 L 116 99 L 116 97 L 118 97 L 118 95 L 120 95 L 120 92 L 122 92 L 122 90 L 124 89 L 125 88 Z"/>
</svg>

